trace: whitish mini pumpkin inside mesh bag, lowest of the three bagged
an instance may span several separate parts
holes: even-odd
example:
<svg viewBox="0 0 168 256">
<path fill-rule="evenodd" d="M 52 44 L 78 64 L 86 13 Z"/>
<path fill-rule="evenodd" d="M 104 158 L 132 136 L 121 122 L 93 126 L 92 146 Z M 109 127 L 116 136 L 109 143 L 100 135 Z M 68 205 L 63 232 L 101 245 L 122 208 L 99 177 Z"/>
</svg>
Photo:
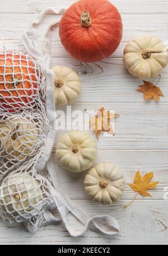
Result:
<svg viewBox="0 0 168 256">
<path fill-rule="evenodd" d="M 40 184 L 30 174 L 14 173 L 2 184 L 0 203 L 13 216 L 34 210 L 42 199 Z"/>
</svg>

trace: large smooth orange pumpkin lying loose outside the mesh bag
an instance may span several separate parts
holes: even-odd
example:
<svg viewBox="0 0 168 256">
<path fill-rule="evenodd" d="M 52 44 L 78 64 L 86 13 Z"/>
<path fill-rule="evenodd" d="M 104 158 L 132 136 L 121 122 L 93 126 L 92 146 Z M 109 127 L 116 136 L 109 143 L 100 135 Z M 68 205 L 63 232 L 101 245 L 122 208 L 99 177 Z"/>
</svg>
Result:
<svg viewBox="0 0 168 256">
<path fill-rule="evenodd" d="M 80 0 L 64 13 L 59 36 L 73 57 L 96 62 L 116 50 L 122 29 L 120 13 L 108 0 Z"/>
</svg>

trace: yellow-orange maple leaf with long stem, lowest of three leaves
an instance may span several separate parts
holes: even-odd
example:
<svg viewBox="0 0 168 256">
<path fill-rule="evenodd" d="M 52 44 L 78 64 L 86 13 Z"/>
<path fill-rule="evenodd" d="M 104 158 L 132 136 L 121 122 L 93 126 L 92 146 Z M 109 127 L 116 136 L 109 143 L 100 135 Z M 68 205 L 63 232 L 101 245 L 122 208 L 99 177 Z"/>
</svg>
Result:
<svg viewBox="0 0 168 256">
<path fill-rule="evenodd" d="M 134 183 L 128 184 L 128 185 L 137 194 L 139 193 L 143 197 L 152 197 L 151 194 L 147 192 L 147 190 L 155 188 L 158 184 L 158 181 L 151 182 L 152 178 L 153 178 L 153 172 L 145 174 L 142 178 L 138 170 L 134 178 Z M 124 208 L 129 206 L 134 201 L 136 196 L 133 198 L 133 200 L 129 204 L 124 206 Z"/>
</svg>

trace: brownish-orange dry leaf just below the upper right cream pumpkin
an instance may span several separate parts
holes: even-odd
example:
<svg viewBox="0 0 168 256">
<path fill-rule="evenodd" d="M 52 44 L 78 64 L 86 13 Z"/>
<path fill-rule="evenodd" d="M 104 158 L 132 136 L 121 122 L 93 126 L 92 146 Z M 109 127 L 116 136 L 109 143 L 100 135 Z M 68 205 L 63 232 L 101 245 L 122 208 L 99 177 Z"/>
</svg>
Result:
<svg viewBox="0 0 168 256">
<path fill-rule="evenodd" d="M 161 78 L 161 76 L 160 76 L 160 78 Z M 159 81 L 160 81 L 160 79 L 159 79 Z M 148 82 L 148 81 L 143 81 L 143 82 L 144 82 L 144 84 L 140 85 L 139 89 L 137 91 L 143 93 L 144 100 L 154 99 L 154 100 L 158 101 L 160 99 L 160 96 L 161 97 L 164 96 L 164 94 L 162 93 L 160 88 L 156 86 L 157 84 L 153 85 L 153 83 Z"/>
</svg>

